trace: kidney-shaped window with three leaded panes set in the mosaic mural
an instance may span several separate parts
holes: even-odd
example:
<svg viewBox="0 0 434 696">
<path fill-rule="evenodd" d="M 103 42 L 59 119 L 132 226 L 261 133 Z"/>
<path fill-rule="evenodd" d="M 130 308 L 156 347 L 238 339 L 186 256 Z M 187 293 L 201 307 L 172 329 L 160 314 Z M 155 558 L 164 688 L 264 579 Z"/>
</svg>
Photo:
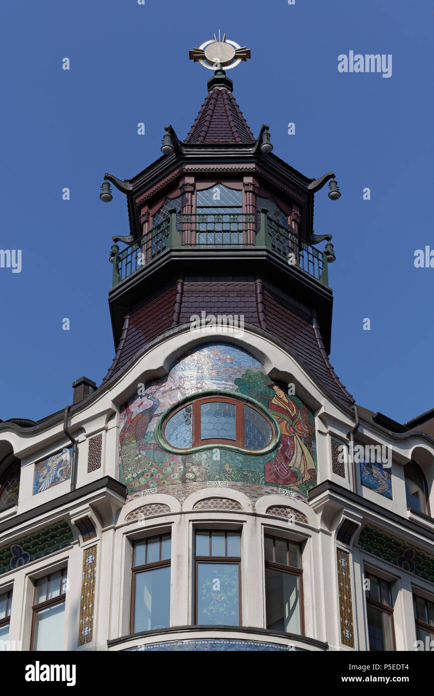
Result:
<svg viewBox="0 0 434 696">
<path fill-rule="evenodd" d="M 220 444 L 256 452 L 270 444 L 274 428 L 256 406 L 218 395 L 201 397 L 171 413 L 162 436 L 177 450 Z"/>
</svg>

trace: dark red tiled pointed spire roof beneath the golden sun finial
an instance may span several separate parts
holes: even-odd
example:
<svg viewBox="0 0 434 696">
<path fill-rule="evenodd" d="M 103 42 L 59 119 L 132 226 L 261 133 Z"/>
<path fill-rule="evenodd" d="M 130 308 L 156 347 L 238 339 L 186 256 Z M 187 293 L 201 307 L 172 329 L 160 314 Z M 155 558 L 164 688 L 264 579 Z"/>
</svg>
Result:
<svg viewBox="0 0 434 696">
<path fill-rule="evenodd" d="M 215 87 L 206 97 L 184 141 L 188 145 L 254 143 L 255 138 L 230 90 Z"/>
</svg>

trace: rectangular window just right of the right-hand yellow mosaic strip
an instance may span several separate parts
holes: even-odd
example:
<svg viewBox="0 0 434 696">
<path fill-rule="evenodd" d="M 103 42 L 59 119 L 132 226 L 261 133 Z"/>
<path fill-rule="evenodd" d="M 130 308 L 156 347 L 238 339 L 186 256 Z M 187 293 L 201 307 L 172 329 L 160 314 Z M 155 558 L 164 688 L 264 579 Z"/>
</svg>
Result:
<svg viewBox="0 0 434 696">
<path fill-rule="evenodd" d="M 394 640 L 394 609 L 392 589 L 387 580 L 366 573 L 369 590 L 366 592 L 366 615 L 368 618 L 369 650 L 392 651 Z"/>
</svg>

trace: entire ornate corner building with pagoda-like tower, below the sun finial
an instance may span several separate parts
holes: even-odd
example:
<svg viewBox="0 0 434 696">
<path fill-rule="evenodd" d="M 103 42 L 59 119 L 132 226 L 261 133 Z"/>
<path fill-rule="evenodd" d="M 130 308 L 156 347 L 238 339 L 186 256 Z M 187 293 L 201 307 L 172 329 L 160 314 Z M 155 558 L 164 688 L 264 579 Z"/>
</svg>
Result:
<svg viewBox="0 0 434 696">
<path fill-rule="evenodd" d="M 224 72 L 208 90 L 183 143 L 168 127 L 163 157 L 105 177 L 130 217 L 107 377 L 77 380 L 65 412 L 0 423 L 0 640 L 425 649 L 433 417 L 400 425 L 341 385 L 334 254 L 313 234 L 334 175 L 272 155 Z"/>
</svg>

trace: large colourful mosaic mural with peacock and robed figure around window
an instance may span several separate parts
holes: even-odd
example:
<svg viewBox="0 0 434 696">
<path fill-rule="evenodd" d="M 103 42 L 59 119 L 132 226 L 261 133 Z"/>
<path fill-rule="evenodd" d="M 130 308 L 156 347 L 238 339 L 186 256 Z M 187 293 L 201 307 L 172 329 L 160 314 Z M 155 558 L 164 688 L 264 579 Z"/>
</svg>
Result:
<svg viewBox="0 0 434 696">
<path fill-rule="evenodd" d="M 177 454 L 164 450 L 155 425 L 164 411 L 184 397 L 219 389 L 253 397 L 277 420 L 279 447 L 265 454 L 214 450 Z M 189 351 L 166 377 L 148 383 L 121 409 L 120 477 L 130 494 L 173 485 L 210 481 L 274 486 L 305 500 L 316 485 L 316 438 L 313 411 L 270 380 L 263 365 L 247 351 L 208 343 Z M 217 455 L 216 455 L 217 452 Z"/>
</svg>

